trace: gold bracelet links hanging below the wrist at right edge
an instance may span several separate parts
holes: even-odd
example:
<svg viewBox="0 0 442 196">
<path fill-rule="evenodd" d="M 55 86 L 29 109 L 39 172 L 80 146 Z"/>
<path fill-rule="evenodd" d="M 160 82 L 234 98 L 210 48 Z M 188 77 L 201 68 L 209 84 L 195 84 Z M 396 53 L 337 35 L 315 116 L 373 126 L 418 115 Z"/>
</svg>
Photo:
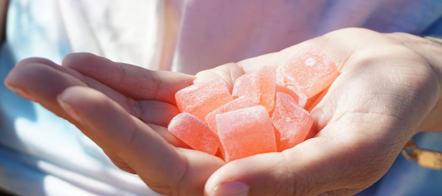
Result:
<svg viewBox="0 0 442 196">
<path fill-rule="evenodd" d="M 402 155 L 422 167 L 442 170 L 442 152 L 419 148 L 411 140 L 402 148 Z"/>
</svg>

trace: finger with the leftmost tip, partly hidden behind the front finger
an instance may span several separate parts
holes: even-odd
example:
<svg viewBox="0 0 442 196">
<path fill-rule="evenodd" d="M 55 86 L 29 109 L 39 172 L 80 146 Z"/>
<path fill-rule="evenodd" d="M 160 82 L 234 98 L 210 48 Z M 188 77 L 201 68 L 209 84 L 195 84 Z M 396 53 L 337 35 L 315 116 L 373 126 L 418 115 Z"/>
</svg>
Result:
<svg viewBox="0 0 442 196">
<path fill-rule="evenodd" d="M 70 86 L 90 86 L 118 101 L 132 113 L 140 113 L 134 100 L 125 98 L 100 82 L 85 77 L 74 70 L 60 67 L 41 58 L 30 58 L 19 62 L 5 79 L 5 84 L 15 91 L 20 89 L 26 98 L 41 103 L 55 114 L 66 117 L 55 97 Z"/>
</svg>

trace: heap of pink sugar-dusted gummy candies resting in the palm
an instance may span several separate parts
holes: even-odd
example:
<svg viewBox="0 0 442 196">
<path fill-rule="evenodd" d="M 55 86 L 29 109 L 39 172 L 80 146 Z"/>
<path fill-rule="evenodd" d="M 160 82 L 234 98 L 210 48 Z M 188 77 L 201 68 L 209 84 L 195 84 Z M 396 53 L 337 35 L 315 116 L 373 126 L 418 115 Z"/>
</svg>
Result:
<svg viewBox="0 0 442 196">
<path fill-rule="evenodd" d="M 239 77 L 230 94 L 222 79 L 175 94 L 182 112 L 168 130 L 195 150 L 226 161 L 282 151 L 304 141 L 313 124 L 307 99 L 331 85 L 338 71 L 321 50 L 305 47 L 280 66 Z"/>
</svg>

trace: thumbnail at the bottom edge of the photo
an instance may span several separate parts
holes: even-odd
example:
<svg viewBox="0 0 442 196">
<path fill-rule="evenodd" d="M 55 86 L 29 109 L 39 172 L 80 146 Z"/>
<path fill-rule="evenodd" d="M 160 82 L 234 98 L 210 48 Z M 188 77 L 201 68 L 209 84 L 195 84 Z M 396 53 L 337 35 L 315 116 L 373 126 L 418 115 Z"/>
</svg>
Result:
<svg viewBox="0 0 442 196">
<path fill-rule="evenodd" d="M 249 186 L 243 182 L 224 182 L 213 189 L 210 196 L 248 196 Z"/>
</svg>

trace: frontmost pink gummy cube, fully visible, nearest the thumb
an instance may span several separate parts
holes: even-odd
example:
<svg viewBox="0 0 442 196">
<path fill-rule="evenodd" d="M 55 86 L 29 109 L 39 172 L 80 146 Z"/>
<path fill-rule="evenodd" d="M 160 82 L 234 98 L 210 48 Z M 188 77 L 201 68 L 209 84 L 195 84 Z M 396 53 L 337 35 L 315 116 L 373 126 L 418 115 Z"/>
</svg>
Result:
<svg viewBox="0 0 442 196">
<path fill-rule="evenodd" d="M 275 130 L 263 106 L 218 114 L 216 121 L 226 162 L 276 151 Z"/>
</svg>

